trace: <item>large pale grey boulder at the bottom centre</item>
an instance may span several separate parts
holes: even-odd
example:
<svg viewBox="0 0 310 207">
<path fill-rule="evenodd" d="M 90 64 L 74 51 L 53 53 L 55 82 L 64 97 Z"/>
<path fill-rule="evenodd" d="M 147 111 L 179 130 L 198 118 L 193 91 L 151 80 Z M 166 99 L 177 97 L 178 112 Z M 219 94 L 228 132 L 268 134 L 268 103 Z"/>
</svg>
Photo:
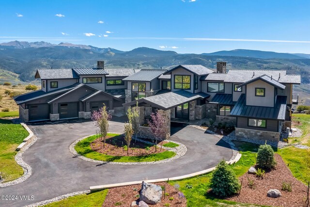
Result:
<svg viewBox="0 0 310 207">
<path fill-rule="evenodd" d="M 160 203 L 163 192 L 158 185 L 142 182 L 140 191 L 140 201 L 144 201 L 147 204 Z"/>
</svg>

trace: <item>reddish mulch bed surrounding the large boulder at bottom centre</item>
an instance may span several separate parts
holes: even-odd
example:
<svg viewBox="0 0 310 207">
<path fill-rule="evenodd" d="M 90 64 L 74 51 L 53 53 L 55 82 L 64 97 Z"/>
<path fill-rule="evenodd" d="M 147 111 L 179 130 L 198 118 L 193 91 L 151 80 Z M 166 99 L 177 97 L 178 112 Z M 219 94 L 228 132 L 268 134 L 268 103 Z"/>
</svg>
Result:
<svg viewBox="0 0 310 207">
<path fill-rule="evenodd" d="M 186 198 L 179 198 L 178 193 L 180 191 L 178 191 L 176 188 L 165 182 L 155 184 L 159 186 L 165 186 L 166 184 L 166 193 L 169 193 L 169 196 L 166 196 L 166 198 L 164 199 L 163 191 L 161 202 L 156 205 L 148 204 L 150 207 L 164 207 L 164 205 L 167 203 L 170 204 L 170 207 L 186 207 Z M 140 190 L 141 185 L 131 185 L 109 189 L 106 200 L 103 203 L 102 207 L 130 207 L 131 202 L 139 202 Z M 171 197 L 173 197 L 174 200 L 171 201 L 169 199 Z"/>
</svg>

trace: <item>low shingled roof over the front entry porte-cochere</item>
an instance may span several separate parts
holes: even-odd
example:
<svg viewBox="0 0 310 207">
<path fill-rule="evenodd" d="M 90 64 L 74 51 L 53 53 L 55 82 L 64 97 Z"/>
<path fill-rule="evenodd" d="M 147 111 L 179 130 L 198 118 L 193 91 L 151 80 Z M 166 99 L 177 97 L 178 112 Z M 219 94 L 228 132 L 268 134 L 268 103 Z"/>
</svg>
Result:
<svg viewBox="0 0 310 207">
<path fill-rule="evenodd" d="M 158 109 L 169 110 L 184 103 L 188 103 L 196 99 L 204 99 L 207 97 L 210 97 L 210 95 L 203 92 L 192 94 L 190 92 L 180 90 L 176 92 L 168 92 L 160 95 L 141 98 L 138 100 L 138 103 L 144 102 Z M 135 105 L 136 103 L 137 101 L 132 101 L 123 104 L 123 106 L 131 106 Z"/>
</svg>

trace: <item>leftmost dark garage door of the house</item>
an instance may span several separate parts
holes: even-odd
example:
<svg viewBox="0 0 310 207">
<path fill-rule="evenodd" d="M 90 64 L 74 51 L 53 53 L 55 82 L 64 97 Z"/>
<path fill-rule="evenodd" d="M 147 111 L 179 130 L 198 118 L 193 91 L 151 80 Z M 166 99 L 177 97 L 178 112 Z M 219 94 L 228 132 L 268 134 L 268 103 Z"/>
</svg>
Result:
<svg viewBox="0 0 310 207">
<path fill-rule="evenodd" d="M 49 119 L 49 104 L 30 104 L 28 105 L 29 121 L 39 121 Z"/>
</svg>

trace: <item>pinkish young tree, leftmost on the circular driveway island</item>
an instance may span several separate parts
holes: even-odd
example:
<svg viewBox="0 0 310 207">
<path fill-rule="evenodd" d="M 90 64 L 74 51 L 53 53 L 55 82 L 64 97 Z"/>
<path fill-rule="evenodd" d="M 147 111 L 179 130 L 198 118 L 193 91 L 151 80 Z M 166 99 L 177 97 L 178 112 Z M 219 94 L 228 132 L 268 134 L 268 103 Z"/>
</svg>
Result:
<svg viewBox="0 0 310 207">
<path fill-rule="evenodd" d="M 109 130 L 109 120 L 112 116 L 108 113 L 106 105 L 100 108 L 98 111 L 93 111 L 92 120 L 96 127 L 99 128 L 101 137 L 103 138 L 103 147 L 106 146 L 106 138 Z M 101 147 L 101 139 L 100 139 Z"/>
</svg>

